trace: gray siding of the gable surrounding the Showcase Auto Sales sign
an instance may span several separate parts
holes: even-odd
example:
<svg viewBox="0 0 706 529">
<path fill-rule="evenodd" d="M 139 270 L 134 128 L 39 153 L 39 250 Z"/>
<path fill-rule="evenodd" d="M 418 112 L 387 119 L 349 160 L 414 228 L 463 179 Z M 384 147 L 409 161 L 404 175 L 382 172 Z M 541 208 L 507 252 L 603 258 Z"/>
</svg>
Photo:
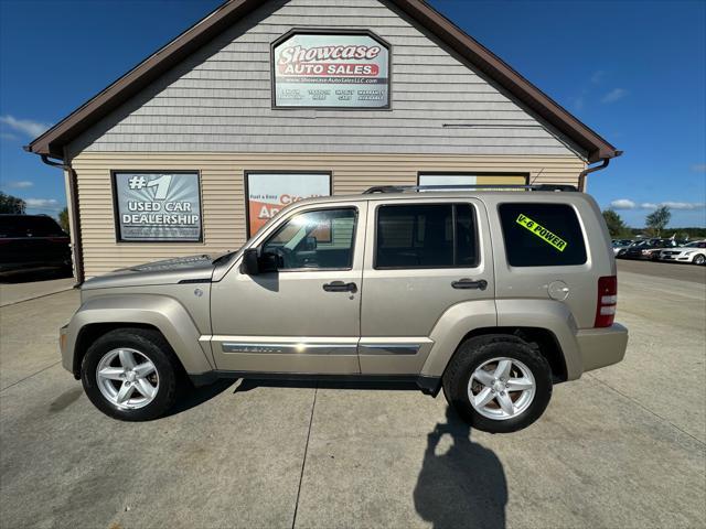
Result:
<svg viewBox="0 0 706 529">
<path fill-rule="evenodd" d="M 392 110 L 271 109 L 270 43 L 301 26 L 388 41 Z M 69 145 L 82 151 L 584 156 L 378 0 L 268 2 Z"/>
</svg>

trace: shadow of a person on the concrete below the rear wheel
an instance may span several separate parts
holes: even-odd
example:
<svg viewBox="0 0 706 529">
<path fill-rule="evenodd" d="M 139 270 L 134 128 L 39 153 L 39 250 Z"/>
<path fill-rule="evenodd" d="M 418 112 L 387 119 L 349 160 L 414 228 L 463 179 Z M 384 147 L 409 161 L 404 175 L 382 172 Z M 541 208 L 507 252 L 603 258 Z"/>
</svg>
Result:
<svg viewBox="0 0 706 529">
<path fill-rule="evenodd" d="M 437 454 L 446 434 L 452 444 Z M 507 482 L 502 463 L 493 451 L 470 438 L 471 427 L 450 407 L 447 422 L 438 423 L 427 435 L 414 503 L 435 529 L 505 527 Z"/>
</svg>

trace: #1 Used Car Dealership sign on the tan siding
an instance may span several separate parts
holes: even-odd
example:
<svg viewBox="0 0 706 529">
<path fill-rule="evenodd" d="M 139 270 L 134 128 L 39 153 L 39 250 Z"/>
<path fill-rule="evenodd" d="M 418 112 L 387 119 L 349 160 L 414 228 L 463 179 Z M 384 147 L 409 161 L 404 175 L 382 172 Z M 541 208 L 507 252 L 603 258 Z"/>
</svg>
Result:
<svg viewBox="0 0 706 529">
<path fill-rule="evenodd" d="M 199 173 L 114 175 L 120 240 L 201 240 Z"/>
</svg>

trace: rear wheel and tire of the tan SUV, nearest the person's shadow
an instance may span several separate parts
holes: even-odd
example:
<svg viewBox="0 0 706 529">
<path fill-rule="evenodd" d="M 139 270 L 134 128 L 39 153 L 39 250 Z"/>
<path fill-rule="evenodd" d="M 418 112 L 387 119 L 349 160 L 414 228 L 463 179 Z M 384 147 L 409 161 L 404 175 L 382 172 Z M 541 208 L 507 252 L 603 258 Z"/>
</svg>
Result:
<svg viewBox="0 0 706 529">
<path fill-rule="evenodd" d="M 528 387 L 532 382 L 532 389 L 503 391 L 506 389 L 503 382 L 484 386 L 475 378 L 470 384 L 471 378 L 480 374 L 477 371 L 479 368 L 485 371 L 483 378 L 490 375 L 492 381 L 500 368 L 499 361 L 492 361 L 496 359 L 510 360 L 510 380 L 514 380 L 517 387 Z M 507 380 L 506 375 L 504 380 Z M 442 386 L 449 404 L 471 427 L 490 433 L 516 432 L 544 413 L 552 398 L 552 369 L 546 358 L 516 336 L 477 336 L 466 341 L 456 352 L 443 374 Z M 485 389 L 492 392 L 485 393 L 490 401 L 477 409 L 479 407 L 471 403 L 469 393 L 479 399 Z M 510 398 L 511 413 L 506 412 L 509 408 L 500 406 L 501 392 L 504 403 L 507 403 L 505 396 Z"/>
</svg>

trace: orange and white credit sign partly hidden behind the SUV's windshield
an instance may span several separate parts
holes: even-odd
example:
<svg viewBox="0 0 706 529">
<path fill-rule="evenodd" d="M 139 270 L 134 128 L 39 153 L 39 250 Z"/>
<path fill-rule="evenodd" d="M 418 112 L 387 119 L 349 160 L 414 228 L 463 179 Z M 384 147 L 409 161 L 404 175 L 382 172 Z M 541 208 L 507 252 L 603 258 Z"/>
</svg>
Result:
<svg viewBox="0 0 706 529">
<path fill-rule="evenodd" d="M 279 210 L 303 198 L 329 196 L 328 173 L 248 173 L 248 237 L 255 235 Z"/>
</svg>

